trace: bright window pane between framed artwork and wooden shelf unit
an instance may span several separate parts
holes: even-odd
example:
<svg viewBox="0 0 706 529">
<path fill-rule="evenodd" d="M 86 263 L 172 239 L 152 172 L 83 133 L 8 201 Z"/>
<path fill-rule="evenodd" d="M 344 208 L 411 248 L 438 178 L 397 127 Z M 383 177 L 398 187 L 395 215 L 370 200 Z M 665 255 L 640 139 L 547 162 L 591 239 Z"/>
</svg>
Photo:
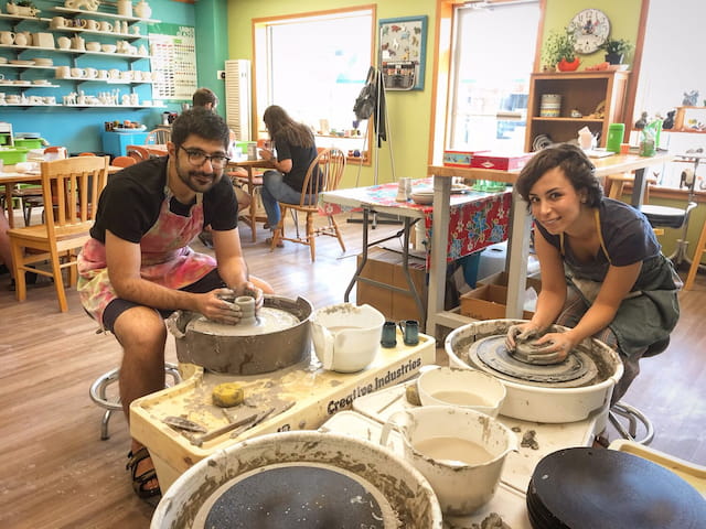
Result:
<svg viewBox="0 0 706 529">
<path fill-rule="evenodd" d="M 456 8 L 448 149 L 524 150 L 539 15 L 538 1 Z"/>
</svg>

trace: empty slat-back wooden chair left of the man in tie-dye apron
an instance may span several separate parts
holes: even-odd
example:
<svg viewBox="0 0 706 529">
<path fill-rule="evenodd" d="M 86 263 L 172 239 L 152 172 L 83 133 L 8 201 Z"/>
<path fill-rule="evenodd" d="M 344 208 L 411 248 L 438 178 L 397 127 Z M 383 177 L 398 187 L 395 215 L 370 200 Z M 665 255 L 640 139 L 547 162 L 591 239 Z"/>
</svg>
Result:
<svg viewBox="0 0 706 529">
<path fill-rule="evenodd" d="M 108 177 L 108 156 L 75 156 L 41 163 L 43 201 L 53 207 L 44 208 L 43 224 L 8 230 L 18 301 L 26 298 L 24 272 L 31 271 L 54 279 L 60 310 L 68 310 L 62 269 L 68 268 L 68 284 L 75 285 L 74 250 L 90 237 L 98 196 Z M 24 249 L 36 252 L 25 255 Z M 31 266 L 45 260 L 51 271 Z"/>
</svg>

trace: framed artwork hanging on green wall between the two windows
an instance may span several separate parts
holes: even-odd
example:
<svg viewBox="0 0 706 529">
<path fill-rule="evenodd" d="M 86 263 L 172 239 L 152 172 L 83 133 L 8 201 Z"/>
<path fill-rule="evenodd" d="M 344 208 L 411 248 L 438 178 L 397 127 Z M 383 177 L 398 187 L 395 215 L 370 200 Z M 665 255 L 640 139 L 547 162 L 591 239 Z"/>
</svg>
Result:
<svg viewBox="0 0 706 529">
<path fill-rule="evenodd" d="M 379 69 L 386 90 L 424 90 L 427 15 L 379 20 Z"/>
</svg>

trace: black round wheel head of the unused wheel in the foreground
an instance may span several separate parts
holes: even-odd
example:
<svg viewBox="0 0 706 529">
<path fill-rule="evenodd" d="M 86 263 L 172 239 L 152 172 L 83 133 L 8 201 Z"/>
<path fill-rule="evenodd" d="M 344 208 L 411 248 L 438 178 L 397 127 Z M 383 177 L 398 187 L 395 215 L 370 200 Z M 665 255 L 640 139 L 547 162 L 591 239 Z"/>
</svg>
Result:
<svg viewBox="0 0 706 529">
<path fill-rule="evenodd" d="M 332 465 L 282 463 L 218 487 L 201 506 L 194 529 L 398 527 L 382 493 Z"/>
</svg>

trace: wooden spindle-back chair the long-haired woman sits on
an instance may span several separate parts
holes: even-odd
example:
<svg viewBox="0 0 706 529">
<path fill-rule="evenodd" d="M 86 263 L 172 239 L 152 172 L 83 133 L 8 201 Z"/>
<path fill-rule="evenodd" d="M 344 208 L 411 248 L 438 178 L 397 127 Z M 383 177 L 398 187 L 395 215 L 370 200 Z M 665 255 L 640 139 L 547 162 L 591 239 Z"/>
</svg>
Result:
<svg viewBox="0 0 706 529">
<path fill-rule="evenodd" d="M 314 227 L 313 216 L 319 213 L 319 193 L 336 190 L 341 177 L 343 176 L 343 170 L 345 169 L 345 154 L 340 149 L 332 147 L 324 149 L 319 155 L 311 162 L 307 175 L 304 177 L 304 185 L 301 193 L 301 199 L 299 204 L 288 204 L 285 202 L 279 203 L 281 210 L 281 218 L 279 224 L 275 228 L 272 234 L 272 242 L 270 251 L 277 247 L 280 240 L 290 240 L 292 242 L 299 242 L 309 246 L 311 252 L 311 260 L 317 258 L 315 237 L 319 235 L 328 235 L 339 239 L 341 249 L 345 251 L 345 245 L 343 244 L 343 237 L 339 230 L 339 226 L 333 218 L 333 215 L 327 215 L 328 225 L 322 227 Z M 320 177 L 317 177 L 320 174 Z M 296 237 L 285 236 L 285 219 L 287 218 L 287 212 L 301 212 L 307 215 L 306 234 L 299 235 L 299 223 L 295 220 L 295 227 L 297 229 Z"/>
</svg>

